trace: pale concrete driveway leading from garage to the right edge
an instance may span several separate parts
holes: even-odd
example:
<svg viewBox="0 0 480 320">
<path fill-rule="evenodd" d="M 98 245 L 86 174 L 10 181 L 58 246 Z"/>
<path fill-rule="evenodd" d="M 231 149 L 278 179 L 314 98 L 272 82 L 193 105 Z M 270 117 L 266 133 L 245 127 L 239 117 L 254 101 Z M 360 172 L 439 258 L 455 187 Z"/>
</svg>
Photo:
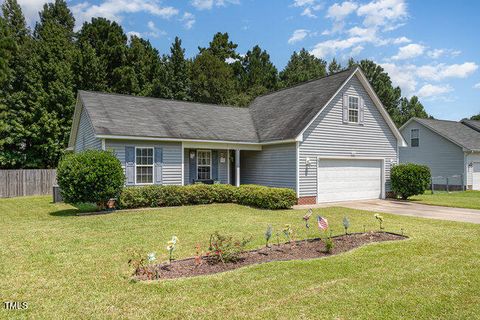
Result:
<svg viewBox="0 0 480 320">
<path fill-rule="evenodd" d="M 430 206 L 396 200 L 360 200 L 331 202 L 317 205 L 295 206 L 294 209 L 345 207 L 373 212 L 393 213 L 404 216 L 461 221 L 480 224 L 480 210 Z"/>
</svg>

